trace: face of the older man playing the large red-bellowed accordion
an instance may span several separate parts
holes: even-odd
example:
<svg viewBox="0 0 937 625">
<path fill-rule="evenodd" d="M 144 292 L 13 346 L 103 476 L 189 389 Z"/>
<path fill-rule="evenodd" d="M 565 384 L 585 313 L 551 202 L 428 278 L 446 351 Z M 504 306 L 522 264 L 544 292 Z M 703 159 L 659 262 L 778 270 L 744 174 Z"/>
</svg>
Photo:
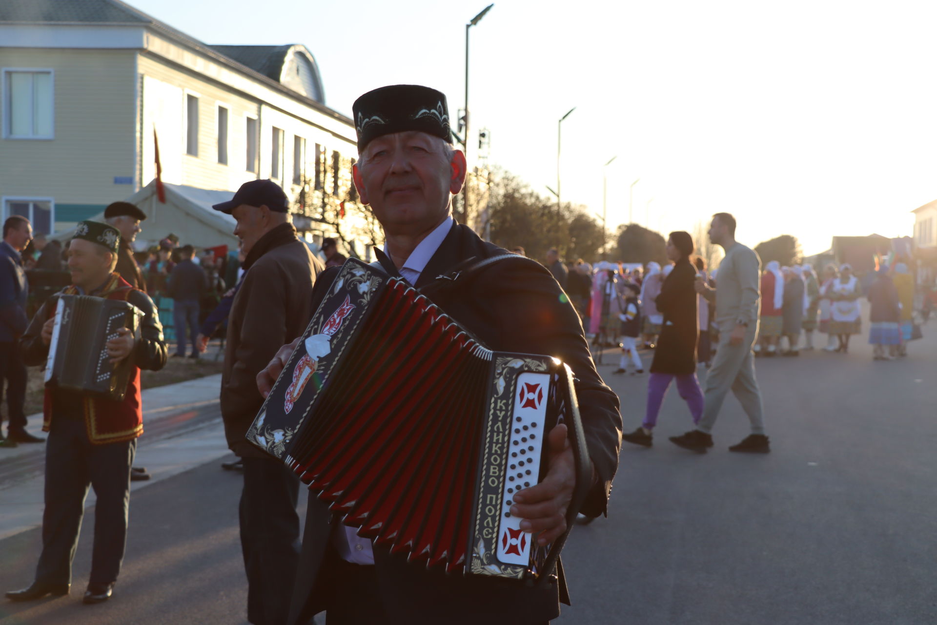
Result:
<svg viewBox="0 0 937 625">
<path fill-rule="evenodd" d="M 450 194 L 465 181 L 465 156 L 424 132 L 407 131 L 370 141 L 354 166 L 365 204 L 390 234 L 420 234 L 449 211 Z"/>
</svg>

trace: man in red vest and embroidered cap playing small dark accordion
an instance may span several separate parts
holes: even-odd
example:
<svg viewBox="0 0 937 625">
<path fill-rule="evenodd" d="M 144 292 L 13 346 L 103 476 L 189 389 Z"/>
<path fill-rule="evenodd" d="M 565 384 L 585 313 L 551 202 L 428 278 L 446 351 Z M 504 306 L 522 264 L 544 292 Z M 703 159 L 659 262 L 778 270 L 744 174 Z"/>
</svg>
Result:
<svg viewBox="0 0 937 625">
<path fill-rule="evenodd" d="M 42 429 L 46 443 L 45 512 L 42 515 L 42 555 L 29 588 L 7 592 L 12 601 L 32 601 L 46 595 L 66 595 L 71 586 L 71 562 L 82 527 L 88 486 L 97 494 L 95 543 L 91 578 L 84 603 L 107 601 L 120 573 L 126 546 L 130 502 L 130 466 L 143 433 L 140 370 L 166 365 L 166 343 L 156 306 L 141 290 L 114 273 L 120 233 L 107 224 L 82 221 L 68 246 L 72 285 L 60 295 L 91 295 L 120 300 L 142 312 L 140 337 L 120 328 L 104 342 L 106 356 L 116 365 L 130 359 L 129 381 L 123 400 L 46 387 Z M 26 365 L 45 365 L 55 322 L 53 298 L 42 305 L 22 337 Z M 95 352 L 97 354 L 97 350 Z M 90 366 L 95 354 L 84 354 L 67 366 Z"/>
</svg>

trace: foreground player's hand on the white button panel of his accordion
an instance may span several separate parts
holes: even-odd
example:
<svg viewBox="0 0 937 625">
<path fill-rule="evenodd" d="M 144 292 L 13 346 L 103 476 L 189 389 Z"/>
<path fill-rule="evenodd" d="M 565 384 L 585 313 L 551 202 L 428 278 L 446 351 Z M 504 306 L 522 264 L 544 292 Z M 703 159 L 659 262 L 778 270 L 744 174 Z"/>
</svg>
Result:
<svg viewBox="0 0 937 625">
<path fill-rule="evenodd" d="M 518 491 L 511 513 L 519 516 L 521 529 L 540 532 L 537 543 L 552 543 L 566 531 L 566 512 L 576 485 L 573 448 L 566 425 L 558 424 L 547 436 L 549 469 L 543 482 Z"/>
</svg>

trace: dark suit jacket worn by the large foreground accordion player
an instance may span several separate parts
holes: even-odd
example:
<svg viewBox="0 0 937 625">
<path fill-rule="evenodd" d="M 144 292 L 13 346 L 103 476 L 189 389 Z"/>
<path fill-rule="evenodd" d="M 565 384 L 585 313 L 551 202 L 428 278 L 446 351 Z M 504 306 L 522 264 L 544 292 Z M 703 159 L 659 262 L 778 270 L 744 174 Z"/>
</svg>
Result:
<svg viewBox="0 0 937 625">
<path fill-rule="evenodd" d="M 469 259 L 507 253 L 484 243 L 466 226 L 454 225 L 414 286 L 423 289 Z M 389 260 L 383 258 L 381 263 L 397 275 Z M 318 308 L 337 272 L 327 269 L 316 281 L 312 310 Z M 573 369 L 589 456 L 599 476 L 582 512 L 605 513 L 621 444 L 618 398 L 596 372 L 582 325 L 573 306 L 561 297 L 557 281 L 536 262 L 503 260 L 457 284 L 450 290 L 434 290 L 428 297 L 487 348 L 550 354 Z M 335 523 L 328 507 L 310 497 L 290 623 L 305 623 L 326 608 L 338 558 L 332 545 Z M 427 573 L 380 548 L 375 548 L 375 565 L 381 601 L 394 623 L 474 624 L 480 619 L 491 625 L 528 623 L 556 618 L 559 600 L 569 603 L 565 585 L 557 578 L 528 587 L 515 580 Z"/>
</svg>

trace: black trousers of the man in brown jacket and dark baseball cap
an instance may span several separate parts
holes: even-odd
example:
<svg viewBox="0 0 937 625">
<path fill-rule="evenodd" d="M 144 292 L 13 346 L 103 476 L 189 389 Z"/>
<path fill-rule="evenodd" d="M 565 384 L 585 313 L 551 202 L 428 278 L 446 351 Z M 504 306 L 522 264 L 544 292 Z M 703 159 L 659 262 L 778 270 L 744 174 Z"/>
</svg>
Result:
<svg viewBox="0 0 937 625">
<path fill-rule="evenodd" d="M 247 620 L 282 625 L 299 561 L 299 478 L 279 460 L 244 458 L 241 550 L 247 573 Z"/>
</svg>

